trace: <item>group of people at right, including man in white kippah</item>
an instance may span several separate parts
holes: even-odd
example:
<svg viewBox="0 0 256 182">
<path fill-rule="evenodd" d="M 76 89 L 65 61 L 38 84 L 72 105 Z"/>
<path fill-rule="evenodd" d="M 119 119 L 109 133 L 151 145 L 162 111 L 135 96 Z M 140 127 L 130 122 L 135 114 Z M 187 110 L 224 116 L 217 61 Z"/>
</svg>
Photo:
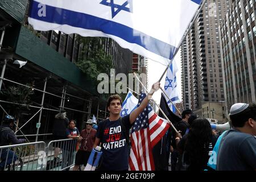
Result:
<svg viewBox="0 0 256 182">
<path fill-rule="evenodd" d="M 207 119 L 184 110 L 171 144 L 172 171 L 256 170 L 256 105 L 234 104 L 229 117 L 231 129 L 219 136 Z"/>
</svg>

